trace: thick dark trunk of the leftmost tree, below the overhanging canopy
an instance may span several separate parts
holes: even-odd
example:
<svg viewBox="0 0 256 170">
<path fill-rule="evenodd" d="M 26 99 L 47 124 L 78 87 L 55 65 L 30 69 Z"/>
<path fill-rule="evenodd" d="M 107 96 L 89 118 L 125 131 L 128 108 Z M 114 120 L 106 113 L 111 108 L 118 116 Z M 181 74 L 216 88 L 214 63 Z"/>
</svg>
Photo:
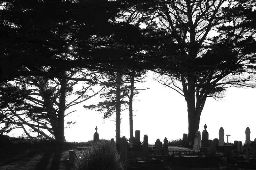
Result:
<svg viewBox="0 0 256 170">
<path fill-rule="evenodd" d="M 66 104 L 66 86 L 67 86 L 67 80 L 66 79 L 60 79 L 60 106 L 58 111 L 58 134 L 57 137 L 55 136 L 55 139 L 57 141 L 66 141 L 65 135 L 64 135 L 64 117 L 65 117 L 65 104 Z"/>
</svg>

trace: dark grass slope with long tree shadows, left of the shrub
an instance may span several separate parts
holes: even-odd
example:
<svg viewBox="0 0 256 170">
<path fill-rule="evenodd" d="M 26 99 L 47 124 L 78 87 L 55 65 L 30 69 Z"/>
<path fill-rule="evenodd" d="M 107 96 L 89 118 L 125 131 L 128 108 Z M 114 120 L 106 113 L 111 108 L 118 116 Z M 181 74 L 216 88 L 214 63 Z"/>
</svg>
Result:
<svg viewBox="0 0 256 170">
<path fill-rule="evenodd" d="M 0 170 L 68 170 L 69 150 L 78 146 L 89 146 L 92 141 L 84 143 L 60 143 L 49 140 L 28 140 L 0 136 Z"/>
</svg>

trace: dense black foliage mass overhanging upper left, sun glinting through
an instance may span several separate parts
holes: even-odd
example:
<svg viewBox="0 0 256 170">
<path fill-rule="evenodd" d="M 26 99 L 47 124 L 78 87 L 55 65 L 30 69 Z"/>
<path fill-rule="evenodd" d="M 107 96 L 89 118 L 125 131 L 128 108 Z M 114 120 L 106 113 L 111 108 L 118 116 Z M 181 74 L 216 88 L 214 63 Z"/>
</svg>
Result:
<svg viewBox="0 0 256 170">
<path fill-rule="evenodd" d="M 127 69 L 137 69 L 144 61 L 133 55 L 146 37 L 138 26 L 116 21 L 119 2 L 14 0 L 0 5 L 1 81 L 53 74 L 37 66 L 51 66 L 58 77 L 61 70 L 76 67 L 103 71 L 120 67 L 129 73 Z"/>
</svg>

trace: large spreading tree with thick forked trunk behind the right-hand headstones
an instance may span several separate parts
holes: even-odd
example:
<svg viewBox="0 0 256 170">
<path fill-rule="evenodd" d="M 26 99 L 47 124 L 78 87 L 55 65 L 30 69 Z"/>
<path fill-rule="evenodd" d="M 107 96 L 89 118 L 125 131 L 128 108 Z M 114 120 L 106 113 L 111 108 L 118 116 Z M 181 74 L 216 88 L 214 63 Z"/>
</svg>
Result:
<svg viewBox="0 0 256 170">
<path fill-rule="evenodd" d="M 184 96 L 193 141 L 207 97 L 225 88 L 255 88 L 255 2 L 251 0 L 139 1 L 165 33 L 147 54 L 159 56 L 157 80 Z"/>
</svg>

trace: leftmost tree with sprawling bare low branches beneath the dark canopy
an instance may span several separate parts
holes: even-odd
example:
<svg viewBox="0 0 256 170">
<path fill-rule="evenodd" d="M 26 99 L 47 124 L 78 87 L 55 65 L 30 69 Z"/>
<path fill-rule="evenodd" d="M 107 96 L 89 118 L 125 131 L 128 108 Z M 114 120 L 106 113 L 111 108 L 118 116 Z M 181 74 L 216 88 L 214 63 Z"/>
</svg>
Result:
<svg viewBox="0 0 256 170">
<path fill-rule="evenodd" d="M 49 68 L 41 69 L 46 71 Z M 72 113 L 65 110 L 95 96 L 99 91 L 92 89 L 95 84 L 92 83 L 94 72 L 73 69 L 63 74 L 72 80 L 28 76 L 14 79 L 8 84 L 2 83 L 0 123 L 5 123 L 5 126 L 1 133 L 22 128 L 30 138 L 30 132 L 36 132 L 48 139 L 54 137 L 58 141 L 65 141 L 64 117 Z M 78 85 L 81 80 L 87 81 Z M 68 125 L 72 123 L 75 122 L 67 122 Z"/>
</svg>

